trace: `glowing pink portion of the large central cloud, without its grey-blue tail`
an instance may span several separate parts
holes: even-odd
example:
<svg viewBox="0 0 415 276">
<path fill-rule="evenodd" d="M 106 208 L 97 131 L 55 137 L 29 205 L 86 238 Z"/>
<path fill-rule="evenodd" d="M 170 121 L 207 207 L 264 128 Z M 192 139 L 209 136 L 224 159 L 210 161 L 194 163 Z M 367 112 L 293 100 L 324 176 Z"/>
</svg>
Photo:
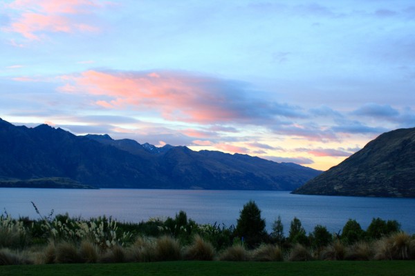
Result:
<svg viewBox="0 0 415 276">
<path fill-rule="evenodd" d="M 61 79 L 67 83 L 59 90 L 95 95 L 98 97 L 95 103 L 105 108 L 156 110 L 168 120 L 202 124 L 234 121 L 245 116 L 239 108 L 232 108 L 234 99 L 210 88 L 215 83 L 207 77 L 180 72 L 148 74 L 89 70 Z M 205 137 L 194 131 L 189 135 Z"/>
</svg>

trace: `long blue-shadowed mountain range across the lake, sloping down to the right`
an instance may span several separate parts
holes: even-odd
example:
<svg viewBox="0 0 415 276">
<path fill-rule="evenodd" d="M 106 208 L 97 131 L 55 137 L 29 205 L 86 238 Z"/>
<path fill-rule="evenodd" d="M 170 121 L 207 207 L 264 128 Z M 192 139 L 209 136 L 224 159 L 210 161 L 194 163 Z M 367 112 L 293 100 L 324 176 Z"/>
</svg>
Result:
<svg viewBox="0 0 415 276">
<path fill-rule="evenodd" d="M 294 190 L 320 175 L 293 163 L 0 119 L 0 186 Z M 35 185 L 36 184 L 36 185 Z"/>
</svg>

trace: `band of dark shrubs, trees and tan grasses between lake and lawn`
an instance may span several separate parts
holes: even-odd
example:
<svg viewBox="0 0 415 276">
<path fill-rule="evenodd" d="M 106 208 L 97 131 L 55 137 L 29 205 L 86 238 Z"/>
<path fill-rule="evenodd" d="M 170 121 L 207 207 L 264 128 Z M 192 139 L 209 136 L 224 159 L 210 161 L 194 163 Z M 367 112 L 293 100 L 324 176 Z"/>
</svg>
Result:
<svg viewBox="0 0 415 276">
<path fill-rule="evenodd" d="M 230 227 L 196 224 L 183 211 L 174 218 L 130 224 L 111 217 L 53 216 L 53 211 L 44 216 L 35 204 L 33 206 L 39 219 L 14 219 L 7 213 L 0 216 L 0 265 L 415 259 L 414 236 L 401 232 L 397 221 L 379 218 L 373 219 L 366 230 L 356 220 L 349 219 L 339 233 L 329 233 L 320 225 L 306 233 L 301 221 L 294 218 L 286 237 L 280 217 L 273 223 L 273 232 L 266 232 L 266 221 L 261 218 L 261 210 L 254 201 L 243 206 L 237 226 Z M 192 266 L 194 263 L 175 264 Z M 219 269 L 223 265 L 211 266 Z M 347 266 L 360 265 L 347 263 Z M 376 266 L 382 266 L 382 263 L 376 263 Z M 71 267 L 77 269 L 77 266 Z M 107 269 L 102 265 L 97 267 Z M 227 267 L 225 265 L 223 269 Z M 405 270 L 409 266 L 403 267 Z M 208 270 L 210 273 L 211 269 Z"/>
</svg>

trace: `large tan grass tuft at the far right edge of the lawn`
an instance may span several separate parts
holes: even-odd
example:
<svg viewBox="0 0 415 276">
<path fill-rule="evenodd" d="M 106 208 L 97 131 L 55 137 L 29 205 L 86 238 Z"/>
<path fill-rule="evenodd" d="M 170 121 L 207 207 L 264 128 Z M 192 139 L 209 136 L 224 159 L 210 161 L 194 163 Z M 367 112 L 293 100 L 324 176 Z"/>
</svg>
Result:
<svg viewBox="0 0 415 276">
<path fill-rule="evenodd" d="M 376 242 L 374 259 L 415 259 L 415 241 L 407 233 L 395 233 Z"/>
</svg>

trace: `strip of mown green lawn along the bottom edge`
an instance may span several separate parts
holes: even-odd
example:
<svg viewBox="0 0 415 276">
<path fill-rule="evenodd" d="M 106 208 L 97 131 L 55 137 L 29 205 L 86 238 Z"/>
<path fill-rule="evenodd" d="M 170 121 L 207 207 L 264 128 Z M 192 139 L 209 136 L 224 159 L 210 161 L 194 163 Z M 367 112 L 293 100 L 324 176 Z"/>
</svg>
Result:
<svg viewBox="0 0 415 276">
<path fill-rule="evenodd" d="M 0 266 L 0 275 L 399 275 L 413 276 L 414 261 L 371 262 L 154 262 Z"/>
</svg>

